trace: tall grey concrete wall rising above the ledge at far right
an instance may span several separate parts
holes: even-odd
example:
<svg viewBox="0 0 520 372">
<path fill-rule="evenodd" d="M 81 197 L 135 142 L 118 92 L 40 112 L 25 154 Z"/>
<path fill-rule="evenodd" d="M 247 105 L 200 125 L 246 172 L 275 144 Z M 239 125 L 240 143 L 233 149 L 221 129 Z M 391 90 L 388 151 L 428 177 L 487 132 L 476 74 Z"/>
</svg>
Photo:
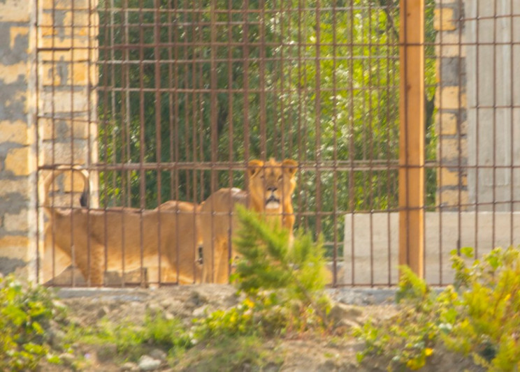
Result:
<svg viewBox="0 0 520 372">
<path fill-rule="evenodd" d="M 519 16 L 520 0 L 465 1 L 468 192 L 481 211 L 520 210 Z"/>
</svg>

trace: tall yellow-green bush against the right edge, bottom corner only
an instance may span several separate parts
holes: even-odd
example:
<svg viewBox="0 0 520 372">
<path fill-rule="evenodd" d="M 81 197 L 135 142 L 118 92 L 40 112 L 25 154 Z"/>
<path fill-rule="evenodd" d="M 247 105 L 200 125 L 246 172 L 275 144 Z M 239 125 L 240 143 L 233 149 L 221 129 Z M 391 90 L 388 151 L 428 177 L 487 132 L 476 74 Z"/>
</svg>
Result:
<svg viewBox="0 0 520 372">
<path fill-rule="evenodd" d="M 470 252 L 468 252 L 470 253 Z M 520 251 L 496 248 L 468 266 L 455 256 L 461 311 L 447 338 L 491 371 L 520 369 Z"/>
</svg>

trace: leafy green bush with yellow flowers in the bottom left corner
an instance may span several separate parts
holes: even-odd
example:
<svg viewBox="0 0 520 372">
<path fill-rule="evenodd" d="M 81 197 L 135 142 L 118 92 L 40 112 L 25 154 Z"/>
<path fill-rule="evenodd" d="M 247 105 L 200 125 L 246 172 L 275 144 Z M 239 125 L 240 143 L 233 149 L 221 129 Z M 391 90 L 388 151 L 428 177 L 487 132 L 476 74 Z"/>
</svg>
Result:
<svg viewBox="0 0 520 372">
<path fill-rule="evenodd" d="M 60 320 L 64 309 L 39 285 L 22 283 L 12 276 L 0 278 L 0 369 L 34 369 L 42 359 L 59 363 L 48 345 L 51 320 Z"/>
</svg>

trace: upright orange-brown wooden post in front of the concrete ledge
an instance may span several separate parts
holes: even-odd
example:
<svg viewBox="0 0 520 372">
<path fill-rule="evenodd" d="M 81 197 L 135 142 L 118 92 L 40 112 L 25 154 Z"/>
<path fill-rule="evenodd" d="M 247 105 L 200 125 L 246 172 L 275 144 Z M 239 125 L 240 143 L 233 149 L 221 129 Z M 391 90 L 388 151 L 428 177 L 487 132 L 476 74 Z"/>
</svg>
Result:
<svg viewBox="0 0 520 372">
<path fill-rule="evenodd" d="M 399 265 L 424 277 L 424 0 L 400 0 Z"/>
</svg>

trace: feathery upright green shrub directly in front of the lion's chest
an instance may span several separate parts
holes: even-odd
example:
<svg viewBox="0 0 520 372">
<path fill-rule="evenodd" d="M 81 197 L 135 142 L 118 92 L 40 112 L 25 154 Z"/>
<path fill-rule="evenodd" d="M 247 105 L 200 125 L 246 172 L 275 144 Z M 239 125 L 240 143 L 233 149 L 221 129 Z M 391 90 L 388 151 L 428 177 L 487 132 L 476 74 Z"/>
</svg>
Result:
<svg viewBox="0 0 520 372">
<path fill-rule="evenodd" d="M 233 278 L 239 290 L 260 300 L 262 306 L 266 304 L 262 291 L 275 290 L 268 303 L 289 304 L 294 306 L 295 318 L 310 312 L 325 324 L 328 302 L 322 302 L 326 283 L 322 244 L 300 232 L 291 241 L 277 221 L 265 221 L 241 206 L 236 211 L 240 230 L 234 244 L 242 257 Z"/>
</svg>

